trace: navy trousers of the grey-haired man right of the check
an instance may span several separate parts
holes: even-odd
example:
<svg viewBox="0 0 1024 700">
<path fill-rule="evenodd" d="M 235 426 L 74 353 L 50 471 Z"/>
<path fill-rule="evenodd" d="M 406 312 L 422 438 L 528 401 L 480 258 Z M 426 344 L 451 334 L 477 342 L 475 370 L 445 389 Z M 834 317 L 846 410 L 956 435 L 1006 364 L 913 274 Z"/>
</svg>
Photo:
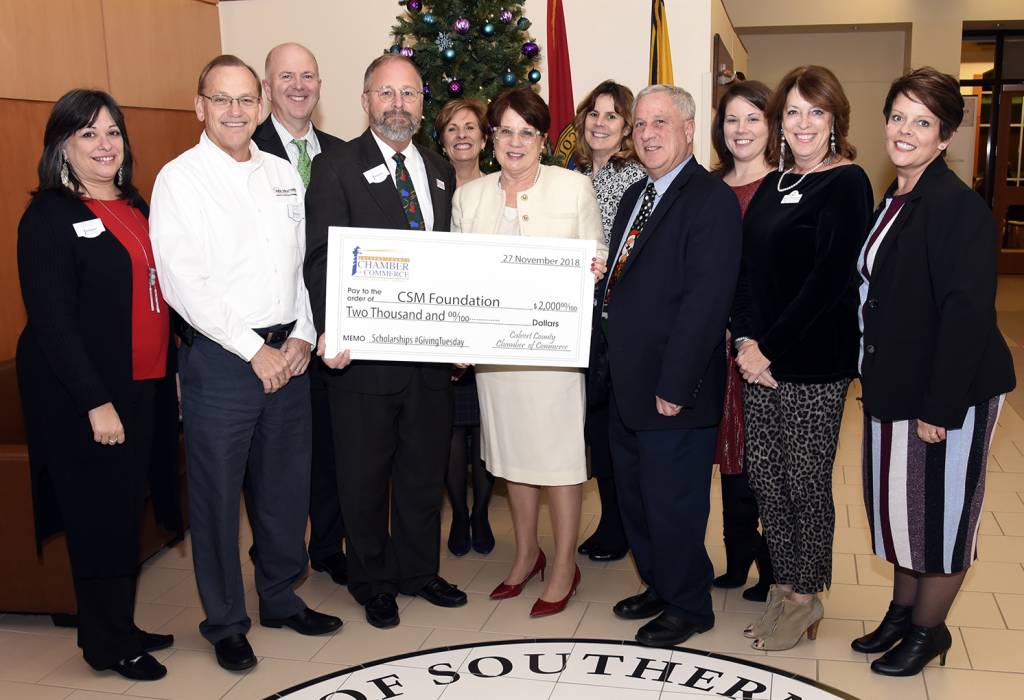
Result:
<svg viewBox="0 0 1024 700">
<path fill-rule="evenodd" d="M 630 430 L 611 398 L 608 435 L 626 538 L 666 612 L 713 625 L 705 532 L 717 428 Z"/>
</svg>

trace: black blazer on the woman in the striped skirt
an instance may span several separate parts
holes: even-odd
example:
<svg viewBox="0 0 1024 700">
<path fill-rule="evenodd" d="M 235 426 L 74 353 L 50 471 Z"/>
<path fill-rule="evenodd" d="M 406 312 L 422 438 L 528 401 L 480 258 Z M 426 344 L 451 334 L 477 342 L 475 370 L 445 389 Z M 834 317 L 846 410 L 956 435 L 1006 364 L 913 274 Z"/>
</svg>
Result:
<svg viewBox="0 0 1024 700">
<path fill-rule="evenodd" d="M 896 190 L 890 185 L 886 196 Z M 876 212 L 876 219 L 881 212 Z M 992 212 L 938 158 L 882 240 L 863 307 L 864 409 L 946 429 L 1016 385 L 995 322 Z"/>
</svg>

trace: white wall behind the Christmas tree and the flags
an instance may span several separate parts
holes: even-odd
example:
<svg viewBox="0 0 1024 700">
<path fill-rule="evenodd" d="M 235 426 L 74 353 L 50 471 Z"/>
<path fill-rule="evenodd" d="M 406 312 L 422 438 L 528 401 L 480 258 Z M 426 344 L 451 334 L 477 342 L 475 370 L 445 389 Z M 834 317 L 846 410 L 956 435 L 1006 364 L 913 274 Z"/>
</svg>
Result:
<svg viewBox="0 0 1024 700">
<path fill-rule="evenodd" d="M 667 13 L 676 83 L 697 102 L 698 122 L 711 120 L 712 7 L 716 5 L 715 31 L 730 34 L 721 0 L 668 0 Z M 572 67 L 574 100 L 611 78 L 634 91 L 647 84 L 650 42 L 650 3 L 647 0 L 563 0 L 566 39 Z M 399 10 L 393 0 L 238 0 L 221 2 L 221 44 L 263 72 L 266 51 L 282 42 L 297 41 L 316 55 L 324 79 L 317 123 L 342 138 L 357 136 L 366 128 L 359 107 L 362 72 L 391 45 L 390 28 Z M 546 41 L 546 0 L 526 0 L 524 10 L 532 21 L 530 33 L 542 50 Z M 727 23 L 727 18 L 725 19 Z M 730 35 L 730 51 L 737 67 L 745 64 L 743 51 Z M 541 94 L 547 97 L 547 65 Z M 740 69 L 742 70 L 742 69 Z M 699 124 L 695 152 L 709 162 L 710 132 Z"/>
</svg>

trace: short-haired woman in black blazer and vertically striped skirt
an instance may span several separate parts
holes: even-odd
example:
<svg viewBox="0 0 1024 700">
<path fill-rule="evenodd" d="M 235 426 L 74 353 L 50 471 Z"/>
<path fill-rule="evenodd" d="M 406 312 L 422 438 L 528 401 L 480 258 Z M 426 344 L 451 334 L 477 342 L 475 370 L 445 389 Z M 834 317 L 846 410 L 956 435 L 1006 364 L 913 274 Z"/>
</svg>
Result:
<svg viewBox="0 0 1024 700">
<path fill-rule="evenodd" d="M 959 85 L 912 71 L 884 114 L 896 181 L 857 268 L 864 500 L 895 576 L 885 619 L 852 646 L 889 650 L 877 673 L 912 675 L 945 663 L 945 617 L 977 557 L 988 448 L 1015 378 L 995 321 L 992 213 L 943 160 L 964 117 Z"/>
</svg>

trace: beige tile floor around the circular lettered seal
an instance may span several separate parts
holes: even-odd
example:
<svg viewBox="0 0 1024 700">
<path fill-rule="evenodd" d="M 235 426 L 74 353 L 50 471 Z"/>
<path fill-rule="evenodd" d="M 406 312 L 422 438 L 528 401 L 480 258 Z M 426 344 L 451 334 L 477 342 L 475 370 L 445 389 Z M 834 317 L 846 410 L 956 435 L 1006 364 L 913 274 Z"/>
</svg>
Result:
<svg viewBox="0 0 1024 700">
<path fill-rule="evenodd" d="M 1000 280 L 999 323 L 1018 366 L 1024 366 L 1024 277 Z M 864 700 L 953 700 L 973 697 L 1024 697 L 1024 389 L 1012 394 L 999 420 L 988 466 L 988 492 L 981 525 L 980 558 L 950 613 L 953 649 L 946 666 L 935 662 L 910 679 L 886 679 L 868 670 L 869 657 L 851 651 L 849 642 L 881 618 L 890 598 L 891 569 L 870 554 L 861 502 L 860 409 L 856 385 L 850 392 L 834 473 L 837 529 L 831 589 L 823 596 L 826 619 L 815 642 L 767 654 L 750 647 L 741 629 L 756 612 L 739 590 L 714 592 L 717 624 L 690 640 L 688 647 L 817 679 Z M 724 569 L 721 494 L 713 485 L 712 517 L 707 542 L 716 570 Z M 599 502 L 592 483 L 586 489 L 581 530 L 597 522 Z M 157 683 L 134 684 L 113 673 L 97 673 L 82 660 L 74 630 L 53 627 L 49 618 L 0 616 L 0 698 L 3 700 L 110 700 L 115 697 L 173 700 L 261 698 L 318 675 L 354 664 L 417 649 L 515 638 L 632 639 L 636 624 L 611 614 L 610 603 L 637 593 L 640 581 L 629 559 L 597 564 L 580 558 L 583 583 L 568 609 L 557 616 L 530 620 L 528 607 L 540 592 L 532 582 L 525 594 L 502 603 L 487 593 L 504 577 L 512 552 L 507 500 L 496 493 L 492 523 L 498 546 L 487 557 L 471 553 L 462 559 L 442 548 L 441 574 L 469 593 L 469 605 L 440 610 L 421 600 L 399 598 L 402 624 L 379 630 L 364 621 L 348 593 L 326 574 L 311 573 L 299 593 L 318 610 L 341 616 L 343 629 L 333 637 L 303 638 L 287 629 L 256 625 L 250 640 L 260 657 L 248 673 L 230 673 L 216 665 L 210 646 L 197 625 L 203 617 L 186 540 L 146 563 L 138 592 L 140 626 L 173 632 L 172 649 L 158 653 L 169 673 Z M 444 530 L 446 532 L 446 521 Z M 243 552 L 249 540 L 243 525 Z M 547 512 L 542 513 L 542 539 L 552 546 Z M 243 562 L 255 611 L 252 565 Z"/>
</svg>

